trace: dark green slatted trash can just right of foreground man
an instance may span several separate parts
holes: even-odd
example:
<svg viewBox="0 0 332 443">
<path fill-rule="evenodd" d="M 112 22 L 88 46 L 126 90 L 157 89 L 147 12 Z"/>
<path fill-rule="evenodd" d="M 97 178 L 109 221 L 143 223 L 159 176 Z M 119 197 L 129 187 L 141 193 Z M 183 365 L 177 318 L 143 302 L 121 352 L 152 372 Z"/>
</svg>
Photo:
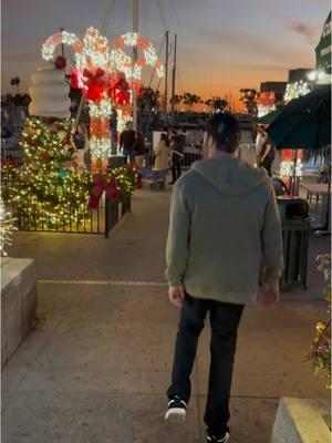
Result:
<svg viewBox="0 0 332 443">
<path fill-rule="evenodd" d="M 309 205 L 303 198 L 277 198 L 282 226 L 283 274 L 281 289 L 301 285 L 307 289 L 308 246 L 310 233 Z"/>
</svg>

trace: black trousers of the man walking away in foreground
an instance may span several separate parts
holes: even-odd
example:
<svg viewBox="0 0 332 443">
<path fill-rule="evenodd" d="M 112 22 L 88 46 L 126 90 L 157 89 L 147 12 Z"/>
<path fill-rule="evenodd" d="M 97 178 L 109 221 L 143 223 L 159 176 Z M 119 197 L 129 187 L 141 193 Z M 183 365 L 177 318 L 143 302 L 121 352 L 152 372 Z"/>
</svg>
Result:
<svg viewBox="0 0 332 443">
<path fill-rule="evenodd" d="M 207 312 L 211 324 L 211 361 L 205 423 L 209 433 L 219 436 L 228 431 L 229 396 L 236 351 L 237 329 L 243 305 L 224 303 L 186 295 L 178 326 L 172 385 L 168 398 L 190 398 L 190 373 L 194 365 L 198 337 Z"/>
</svg>

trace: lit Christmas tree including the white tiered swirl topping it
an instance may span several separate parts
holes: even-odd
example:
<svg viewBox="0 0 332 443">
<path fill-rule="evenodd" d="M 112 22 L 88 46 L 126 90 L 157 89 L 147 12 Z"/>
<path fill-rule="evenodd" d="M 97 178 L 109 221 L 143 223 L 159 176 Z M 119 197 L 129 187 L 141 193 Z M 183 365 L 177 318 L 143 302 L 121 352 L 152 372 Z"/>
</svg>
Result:
<svg viewBox="0 0 332 443">
<path fill-rule="evenodd" d="M 84 217 L 91 175 L 79 171 L 73 154 L 69 85 L 64 73 L 43 62 L 32 76 L 21 146 L 24 165 L 10 172 L 7 192 L 15 205 L 19 224 L 58 228 Z M 6 176 L 6 173 L 4 173 Z"/>
</svg>

